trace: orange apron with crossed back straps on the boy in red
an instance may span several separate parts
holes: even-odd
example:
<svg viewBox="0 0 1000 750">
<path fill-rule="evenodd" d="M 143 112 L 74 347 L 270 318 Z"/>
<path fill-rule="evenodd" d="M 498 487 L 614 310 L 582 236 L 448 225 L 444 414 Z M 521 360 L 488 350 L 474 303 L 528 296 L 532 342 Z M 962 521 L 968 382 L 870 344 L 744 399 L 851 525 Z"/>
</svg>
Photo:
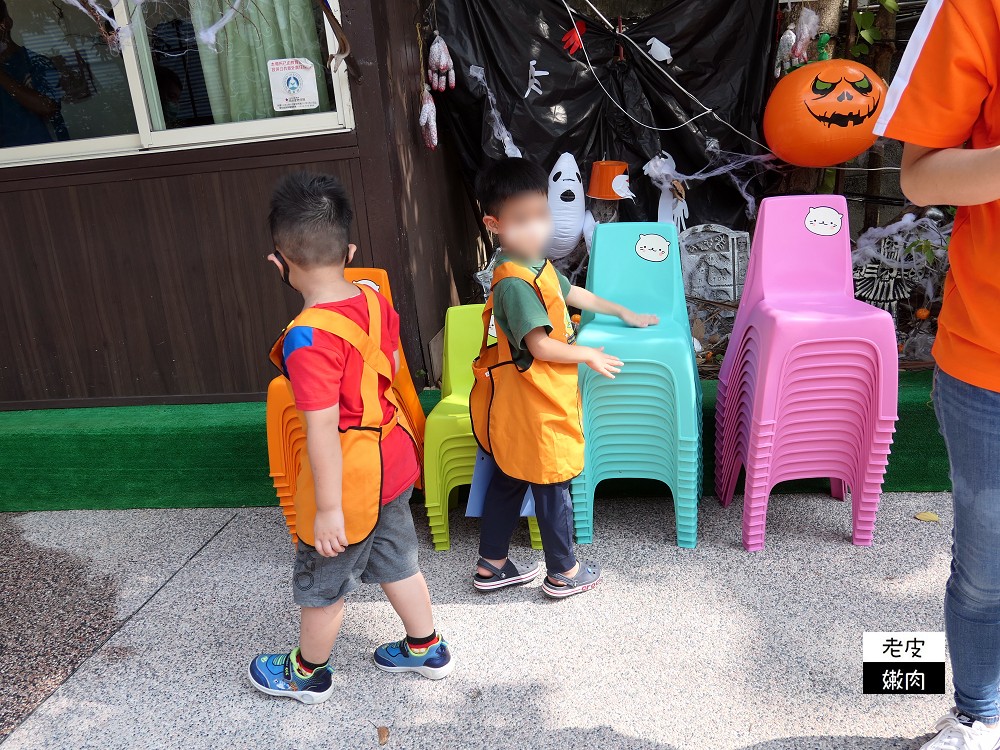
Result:
<svg viewBox="0 0 1000 750">
<path fill-rule="evenodd" d="M 303 310 L 293 320 L 271 348 L 271 362 L 284 371 L 282 355 L 285 335 L 296 326 L 318 328 L 353 346 L 364 359 L 361 373 L 361 424 L 340 430 L 340 447 L 343 452 L 343 481 L 341 503 L 344 509 L 344 528 L 349 544 L 364 541 L 375 529 L 382 510 L 382 440 L 397 425 L 397 415 L 385 424 L 379 399 L 379 376 L 392 383 L 392 364 L 382 351 L 382 314 L 375 292 L 364 285 L 358 288 L 368 303 L 368 331 L 350 318 L 332 310 L 311 307 Z M 270 389 L 268 391 L 270 396 Z M 398 405 L 392 388 L 385 390 L 385 397 L 396 408 Z M 299 413 L 305 429 L 305 419 Z M 402 429 L 405 426 L 400 425 Z M 407 430 L 409 432 L 409 430 Z M 412 437 L 412 434 L 411 434 Z M 269 440 L 272 439 L 268 432 Z M 314 545 L 313 522 L 316 518 L 316 493 L 312 468 L 305 450 L 299 456 L 300 466 L 293 495 L 293 533 L 303 542 Z M 286 512 L 286 517 L 289 514 Z"/>
</svg>

